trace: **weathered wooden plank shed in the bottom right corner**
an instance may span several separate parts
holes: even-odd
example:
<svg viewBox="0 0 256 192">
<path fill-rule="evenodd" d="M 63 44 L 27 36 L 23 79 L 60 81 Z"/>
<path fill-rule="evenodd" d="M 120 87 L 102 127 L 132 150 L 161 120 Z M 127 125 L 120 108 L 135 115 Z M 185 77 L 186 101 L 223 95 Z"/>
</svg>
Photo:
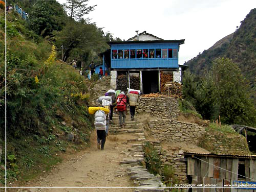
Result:
<svg viewBox="0 0 256 192">
<path fill-rule="evenodd" d="M 236 183 L 256 184 L 256 156 L 184 153 L 191 191 L 256 191 L 256 187 L 231 187 Z M 193 185 L 194 184 L 194 185 Z M 201 186 L 203 188 L 196 188 Z"/>
</svg>

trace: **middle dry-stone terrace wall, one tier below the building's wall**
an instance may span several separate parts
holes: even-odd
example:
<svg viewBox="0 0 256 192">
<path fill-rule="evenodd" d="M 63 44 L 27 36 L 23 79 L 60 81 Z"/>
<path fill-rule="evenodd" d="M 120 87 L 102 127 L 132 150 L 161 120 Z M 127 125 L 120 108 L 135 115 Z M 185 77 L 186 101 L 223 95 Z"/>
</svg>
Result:
<svg viewBox="0 0 256 192">
<path fill-rule="evenodd" d="M 172 119 L 153 119 L 148 121 L 151 136 L 159 141 L 185 142 L 197 144 L 205 133 L 204 127 L 197 124 L 174 121 Z"/>
</svg>

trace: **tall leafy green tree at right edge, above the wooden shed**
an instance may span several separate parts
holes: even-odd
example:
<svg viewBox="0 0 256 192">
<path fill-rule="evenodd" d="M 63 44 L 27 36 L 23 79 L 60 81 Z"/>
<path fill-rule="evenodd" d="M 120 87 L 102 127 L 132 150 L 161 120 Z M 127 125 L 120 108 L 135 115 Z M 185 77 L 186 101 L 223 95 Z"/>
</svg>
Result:
<svg viewBox="0 0 256 192">
<path fill-rule="evenodd" d="M 248 84 L 240 68 L 230 59 L 220 58 L 211 68 L 219 115 L 227 124 L 255 125 L 256 111 Z"/>
</svg>

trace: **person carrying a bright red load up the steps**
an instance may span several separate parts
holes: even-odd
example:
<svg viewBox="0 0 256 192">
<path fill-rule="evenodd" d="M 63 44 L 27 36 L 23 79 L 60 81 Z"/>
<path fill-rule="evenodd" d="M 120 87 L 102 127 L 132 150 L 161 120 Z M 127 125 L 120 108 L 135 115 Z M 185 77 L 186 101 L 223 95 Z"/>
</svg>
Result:
<svg viewBox="0 0 256 192">
<path fill-rule="evenodd" d="M 126 97 L 124 92 L 121 92 L 117 97 L 117 111 L 119 117 L 119 125 L 120 127 L 125 127 L 125 118 L 126 118 L 126 106 L 129 102 L 129 98 Z"/>
</svg>

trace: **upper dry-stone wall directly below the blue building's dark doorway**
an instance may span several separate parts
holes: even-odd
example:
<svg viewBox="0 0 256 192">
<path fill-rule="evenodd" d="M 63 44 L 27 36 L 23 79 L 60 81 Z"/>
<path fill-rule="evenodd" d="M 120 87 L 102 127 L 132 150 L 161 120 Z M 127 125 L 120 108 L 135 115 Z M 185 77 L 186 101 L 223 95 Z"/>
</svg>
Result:
<svg viewBox="0 0 256 192">
<path fill-rule="evenodd" d="M 163 119 L 177 119 L 179 115 L 179 104 L 175 98 L 158 97 L 143 98 L 140 97 L 136 105 L 138 113 L 150 113 L 153 117 Z"/>
</svg>

